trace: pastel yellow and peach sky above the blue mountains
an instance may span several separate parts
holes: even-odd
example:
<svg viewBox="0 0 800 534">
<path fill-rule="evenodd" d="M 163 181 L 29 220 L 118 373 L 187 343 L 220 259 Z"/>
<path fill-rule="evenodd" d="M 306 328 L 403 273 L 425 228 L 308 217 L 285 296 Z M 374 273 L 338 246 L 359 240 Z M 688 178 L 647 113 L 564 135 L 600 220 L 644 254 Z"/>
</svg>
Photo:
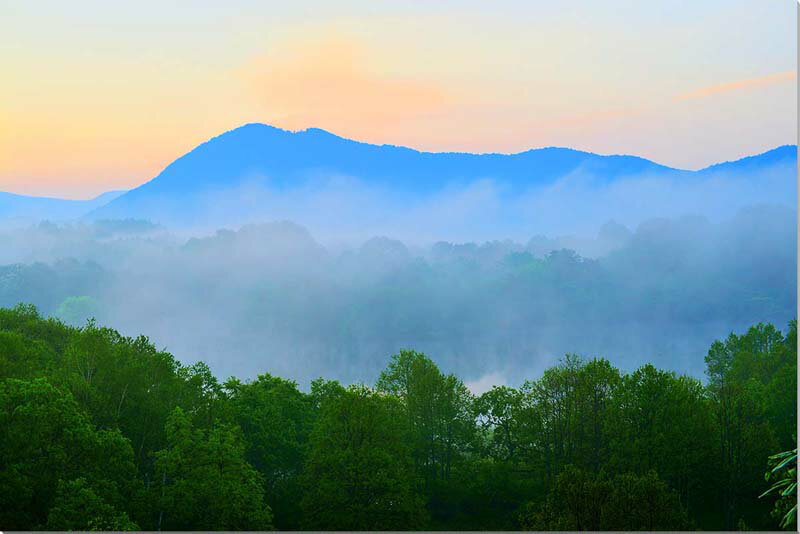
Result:
<svg viewBox="0 0 800 534">
<path fill-rule="evenodd" d="M 242 124 L 697 169 L 797 142 L 794 0 L 0 0 L 0 191 L 89 198 Z"/>
</svg>

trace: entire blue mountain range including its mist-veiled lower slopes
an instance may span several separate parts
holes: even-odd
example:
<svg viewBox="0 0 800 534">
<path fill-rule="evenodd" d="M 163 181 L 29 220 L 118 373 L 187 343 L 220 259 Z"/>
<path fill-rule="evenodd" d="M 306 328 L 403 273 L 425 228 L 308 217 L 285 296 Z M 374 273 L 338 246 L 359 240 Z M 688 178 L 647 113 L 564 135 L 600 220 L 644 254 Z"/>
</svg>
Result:
<svg viewBox="0 0 800 534">
<path fill-rule="evenodd" d="M 0 218 L 134 218 L 196 228 L 288 219 L 318 232 L 347 226 L 351 234 L 359 228 L 396 234 L 400 219 L 415 224 L 402 223 L 409 232 L 469 221 L 469 229 L 489 225 L 503 233 L 524 224 L 535 233 L 549 221 L 551 228 L 573 231 L 563 223 L 591 219 L 599 225 L 614 218 L 636 224 L 685 212 L 716 217 L 747 203 L 785 203 L 795 198 L 796 165 L 796 146 L 686 171 L 569 148 L 433 153 L 318 128 L 291 132 L 247 124 L 199 145 L 130 191 L 91 201 L 5 194 Z M 759 174 L 774 169 L 779 172 Z M 432 220 L 432 214 L 441 216 Z"/>
</svg>

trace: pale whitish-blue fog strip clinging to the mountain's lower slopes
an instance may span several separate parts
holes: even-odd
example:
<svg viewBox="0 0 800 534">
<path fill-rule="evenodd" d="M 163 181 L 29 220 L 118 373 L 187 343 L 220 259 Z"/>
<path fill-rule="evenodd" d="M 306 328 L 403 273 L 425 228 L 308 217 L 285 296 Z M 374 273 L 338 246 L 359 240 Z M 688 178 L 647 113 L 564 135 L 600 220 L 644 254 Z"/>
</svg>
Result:
<svg viewBox="0 0 800 534">
<path fill-rule="evenodd" d="M 155 198 L 147 212 L 150 220 L 191 235 L 294 221 L 329 246 L 354 246 L 376 235 L 410 246 L 439 240 L 527 241 L 536 234 L 585 238 L 609 220 L 635 228 L 654 217 L 703 215 L 720 222 L 747 205 L 794 207 L 796 176 L 793 160 L 746 171 L 674 171 L 612 181 L 578 167 L 527 189 L 485 176 L 419 194 L 329 174 L 310 174 L 287 189 L 274 185 L 274 177 L 253 174 L 224 189 L 181 193 L 177 205 L 175 199 Z"/>
</svg>

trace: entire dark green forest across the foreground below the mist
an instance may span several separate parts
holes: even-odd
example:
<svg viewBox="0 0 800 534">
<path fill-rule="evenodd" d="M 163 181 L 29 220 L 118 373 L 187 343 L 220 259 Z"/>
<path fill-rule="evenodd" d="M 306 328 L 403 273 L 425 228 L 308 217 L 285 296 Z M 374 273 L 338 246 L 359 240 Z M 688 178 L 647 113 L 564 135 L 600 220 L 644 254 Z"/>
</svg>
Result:
<svg viewBox="0 0 800 534">
<path fill-rule="evenodd" d="M 473 395 L 402 350 L 374 383 L 301 388 L 20 304 L 0 309 L 0 528 L 794 529 L 796 355 L 796 321 L 759 323 L 696 354 L 702 377 L 567 354 Z"/>
</svg>

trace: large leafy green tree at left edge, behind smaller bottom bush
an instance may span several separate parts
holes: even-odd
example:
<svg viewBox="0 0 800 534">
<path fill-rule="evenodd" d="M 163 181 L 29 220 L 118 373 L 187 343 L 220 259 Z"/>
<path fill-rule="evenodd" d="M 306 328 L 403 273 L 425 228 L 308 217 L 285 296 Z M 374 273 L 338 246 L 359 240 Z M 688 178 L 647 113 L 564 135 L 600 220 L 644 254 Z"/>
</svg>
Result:
<svg viewBox="0 0 800 534">
<path fill-rule="evenodd" d="M 45 525 L 61 481 L 84 479 L 117 515 L 137 491 L 128 440 L 96 430 L 69 393 L 44 379 L 0 381 L 0 428 L 4 529 Z"/>
</svg>

